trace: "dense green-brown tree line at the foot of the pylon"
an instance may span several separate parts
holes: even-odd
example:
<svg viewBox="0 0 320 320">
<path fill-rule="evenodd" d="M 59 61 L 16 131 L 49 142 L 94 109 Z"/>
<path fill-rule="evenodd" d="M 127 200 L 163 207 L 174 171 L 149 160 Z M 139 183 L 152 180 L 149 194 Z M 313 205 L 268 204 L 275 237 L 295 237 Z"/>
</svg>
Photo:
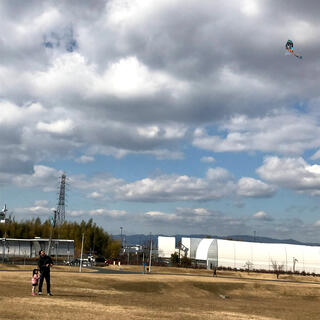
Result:
<svg viewBox="0 0 320 320">
<path fill-rule="evenodd" d="M 41 222 L 40 218 L 17 222 L 13 218 L 7 224 L 0 224 L 1 238 L 33 239 L 40 237 L 48 239 L 52 225 L 50 220 Z M 87 222 L 65 221 L 62 225 L 53 229 L 53 239 L 74 240 L 75 255 L 79 255 L 81 250 L 82 234 L 84 234 L 84 253 L 94 253 L 106 258 L 117 258 L 120 254 L 120 241 L 113 240 L 112 237 L 99 227 L 92 219 Z"/>
</svg>

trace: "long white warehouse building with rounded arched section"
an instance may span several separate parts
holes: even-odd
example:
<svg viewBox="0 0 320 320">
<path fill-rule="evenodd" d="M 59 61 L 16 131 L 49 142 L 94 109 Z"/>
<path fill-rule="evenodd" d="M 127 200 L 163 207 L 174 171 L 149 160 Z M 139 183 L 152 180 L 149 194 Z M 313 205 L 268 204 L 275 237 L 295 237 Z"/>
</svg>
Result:
<svg viewBox="0 0 320 320">
<path fill-rule="evenodd" d="M 182 248 L 182 249 L 181 249 Z M 320 274 L 320 247 L 285 243 L 259 243 L 222 239 L 182 238 L 180 254 L 206 263 L 207 268 L 224 267 L 273 270 L 273 264 L 284 271 Z M 170 258 L 179 252 L 175 237 L 158 237 L 158 256 Z"/>
</svg>

